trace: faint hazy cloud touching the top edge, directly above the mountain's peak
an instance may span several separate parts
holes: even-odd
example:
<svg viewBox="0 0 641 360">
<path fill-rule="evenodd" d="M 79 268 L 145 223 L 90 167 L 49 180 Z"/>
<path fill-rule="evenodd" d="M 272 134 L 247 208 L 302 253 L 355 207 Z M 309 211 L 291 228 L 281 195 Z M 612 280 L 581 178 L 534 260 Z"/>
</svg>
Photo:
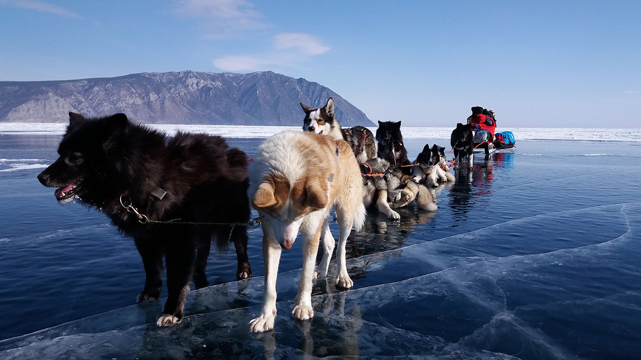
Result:
<svg viewBox="0 0 641 360">
<path fill-rule="evenodd" d="M 174 8 L 179 15 L 199 19 L 208 38 L 235 37 L 267 26 L 263 15 L 247 0 L 179 0 Z"/>
</svg>

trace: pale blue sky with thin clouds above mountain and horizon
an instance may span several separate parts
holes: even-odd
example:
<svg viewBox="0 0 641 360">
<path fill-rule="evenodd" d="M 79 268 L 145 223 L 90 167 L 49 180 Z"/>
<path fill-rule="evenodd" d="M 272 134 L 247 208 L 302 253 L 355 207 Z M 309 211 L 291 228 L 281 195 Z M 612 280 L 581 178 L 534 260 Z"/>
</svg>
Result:
<svg viewBox="0 0 641 360">
<path fill-rule="evenodd" d="M 374 122 L 453 126 L 484 106 L 502 129 L 640 127 L 640 14 L 641 1 L 0 0 L 0 81 L 273 70 Z"/>
</svg>

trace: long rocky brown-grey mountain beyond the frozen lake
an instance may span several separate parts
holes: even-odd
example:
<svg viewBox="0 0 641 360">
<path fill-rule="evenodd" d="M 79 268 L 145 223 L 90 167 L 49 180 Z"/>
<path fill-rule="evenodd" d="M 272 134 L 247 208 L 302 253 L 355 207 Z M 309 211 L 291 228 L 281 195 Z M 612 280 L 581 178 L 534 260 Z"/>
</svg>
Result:
<svg viewBox="0 0 641 360">
<path fill-rule="evenodd" d="M 363 111 L 326 86 L 272 71 L 143 72 L 117 78 L 0 81 L 0 122 L 66 122 L 69 111 L 85 117 L 125 113 L 149 124 L 302 126 L 303 102 L 335 102 L 343 126 L 372 126 Z"/>
</svg>

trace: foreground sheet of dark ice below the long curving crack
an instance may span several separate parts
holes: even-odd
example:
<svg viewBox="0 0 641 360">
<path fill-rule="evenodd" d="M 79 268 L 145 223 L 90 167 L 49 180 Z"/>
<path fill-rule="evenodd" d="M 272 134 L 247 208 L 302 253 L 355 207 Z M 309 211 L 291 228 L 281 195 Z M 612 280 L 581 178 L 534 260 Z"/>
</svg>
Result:
<svg viewBox="0 0 641 360">
<path fill-rule="evenodd" d="M 1 341 L 0 357 L 631 357 L 641 329 L 620 319 L 641 316 L 640 220 L 641 203 L 596 206 L 350 259 L 354 290 L 319 280 L 312 321 L 292 320 L 293 302 L 279 302 L 278 330 L 258 336 L 247 326 L 260 311 L 257 277 L 192 291 L 185 319 L 169 329 L 154 325 L 160 304 L 130 306 Z M 396 225 L 387 226 L 381 236 Z M 298 272 L 279 275 L 280 299 L 294 297 Z"/>
</svg>

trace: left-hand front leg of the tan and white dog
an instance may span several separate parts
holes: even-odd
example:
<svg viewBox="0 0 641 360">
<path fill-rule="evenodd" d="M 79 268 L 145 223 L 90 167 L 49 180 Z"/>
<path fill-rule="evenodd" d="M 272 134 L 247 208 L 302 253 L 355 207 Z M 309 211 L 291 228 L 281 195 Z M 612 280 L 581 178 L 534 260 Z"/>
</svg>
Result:
<svg viewBox="0 0 641 360">
<path fill-rule="evenodd" d="M 271 222 L 263 220 L 263 259 L 265 260 L 265 293 L 260 316 L 249 322 L 249 331 L 262 332 L 274 329 L 276 319 L 276 276 L 281 247 L 274 236 Z"/>
</svg>

